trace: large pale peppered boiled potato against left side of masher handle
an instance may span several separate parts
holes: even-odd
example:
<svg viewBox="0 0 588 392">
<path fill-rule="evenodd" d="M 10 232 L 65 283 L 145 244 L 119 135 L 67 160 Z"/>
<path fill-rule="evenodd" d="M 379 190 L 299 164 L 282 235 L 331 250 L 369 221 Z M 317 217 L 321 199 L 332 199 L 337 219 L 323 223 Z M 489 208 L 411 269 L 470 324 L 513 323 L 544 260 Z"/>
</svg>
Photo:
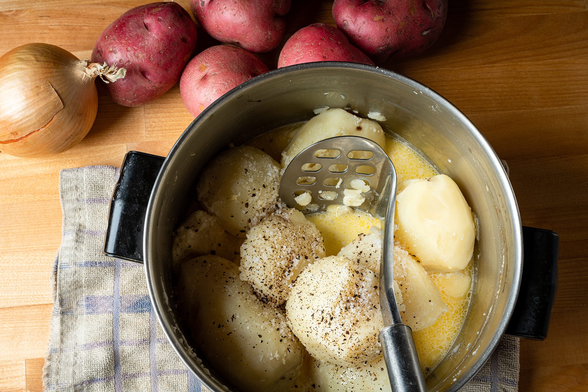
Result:
<svg viewBox="0 0 588 392">
<path fill-rule="evenodd" d="M 306 267 L 286 301 L 288 322 L 320 361 L 360 366 L 380 354 L 384 325 L 378 280 L 345 257 L 329 256 Z"/>
</svg>

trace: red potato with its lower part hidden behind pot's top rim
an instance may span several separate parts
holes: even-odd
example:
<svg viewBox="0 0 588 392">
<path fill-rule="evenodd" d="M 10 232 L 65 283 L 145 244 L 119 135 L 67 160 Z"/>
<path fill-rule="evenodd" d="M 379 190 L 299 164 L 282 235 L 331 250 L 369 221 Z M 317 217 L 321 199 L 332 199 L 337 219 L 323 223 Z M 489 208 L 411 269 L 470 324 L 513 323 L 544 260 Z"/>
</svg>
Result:
<svg viewBox="0 0 588 392">
<path fill-rule="evenodd" d="M 333 26 L 315 23 L 295 32 L 280 52 L 278 68 L 316 61 L 349 61 L 374 65 Z"/>
</svg>

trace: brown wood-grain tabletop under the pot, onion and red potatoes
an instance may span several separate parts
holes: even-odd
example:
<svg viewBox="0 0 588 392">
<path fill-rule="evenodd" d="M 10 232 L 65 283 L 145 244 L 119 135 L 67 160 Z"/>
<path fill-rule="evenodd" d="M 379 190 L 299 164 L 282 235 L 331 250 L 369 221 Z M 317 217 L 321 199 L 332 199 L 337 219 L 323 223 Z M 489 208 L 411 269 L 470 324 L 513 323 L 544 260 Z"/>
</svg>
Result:
<svg viewBox="0 0 588 392">
<path fill-rule="evenodd" d="M 296 30 L 334 24 L 332 1 L 293 0 L 286 38 L 259 57 L 276 68 Z M 189 9 L 188 0 L 178 1 Z M 0 0 L 0 55 L 29 42 L 87 59 L 131 0 Z M 202 51 L 218 44 L 198 30 Z M 584 0 L 449 0 L 429 50 L 379 64 L 462 110 L 510 166 L 523 225 L 560 236 L 549 336 L 520 344 L 520 391 L 588 391 L 588 11 Z M 59 170 L 120 166 L 128 150 L 166 155 L 192 116 L 179 87 L 126 108 L 98 87 L 98 116 L 79 145 L 50 158 L 0 153 L 0 390 L 40 391 L 49 273 L 61 243 Z M 2 92 L 0 92 L 2 93 Z"/>
</svg>

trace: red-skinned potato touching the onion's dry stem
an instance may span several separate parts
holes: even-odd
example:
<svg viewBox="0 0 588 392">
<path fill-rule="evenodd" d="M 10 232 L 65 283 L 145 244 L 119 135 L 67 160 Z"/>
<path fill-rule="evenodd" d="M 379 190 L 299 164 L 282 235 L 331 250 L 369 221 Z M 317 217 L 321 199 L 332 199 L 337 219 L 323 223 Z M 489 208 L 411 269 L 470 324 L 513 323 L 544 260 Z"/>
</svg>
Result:
<svg viewBox="0 0 588 392">
<path fill-rule="evenodd" d="M 129 9 L 98 37 L 92 61 L 126 68 L 126 76 L 105 84 L 112 100 L 140 106 L 172 88 L 196 47 L 196 26 L 173 2 Z"/>
</svg>

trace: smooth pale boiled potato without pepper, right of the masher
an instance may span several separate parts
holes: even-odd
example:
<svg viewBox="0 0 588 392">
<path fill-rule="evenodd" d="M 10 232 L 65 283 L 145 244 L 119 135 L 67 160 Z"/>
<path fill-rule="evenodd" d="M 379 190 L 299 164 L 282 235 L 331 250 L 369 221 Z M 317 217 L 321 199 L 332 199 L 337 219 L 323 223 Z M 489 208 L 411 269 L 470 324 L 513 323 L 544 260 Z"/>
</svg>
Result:
<svg viewBox="0 0 588 392">
<path fill-rule="evenodd" d="M 476 227 L 472 210 L 446 175 L 400 183 L 396 240 L 427 270 L 450 272 L 472 258 Z"/>
</svg>

